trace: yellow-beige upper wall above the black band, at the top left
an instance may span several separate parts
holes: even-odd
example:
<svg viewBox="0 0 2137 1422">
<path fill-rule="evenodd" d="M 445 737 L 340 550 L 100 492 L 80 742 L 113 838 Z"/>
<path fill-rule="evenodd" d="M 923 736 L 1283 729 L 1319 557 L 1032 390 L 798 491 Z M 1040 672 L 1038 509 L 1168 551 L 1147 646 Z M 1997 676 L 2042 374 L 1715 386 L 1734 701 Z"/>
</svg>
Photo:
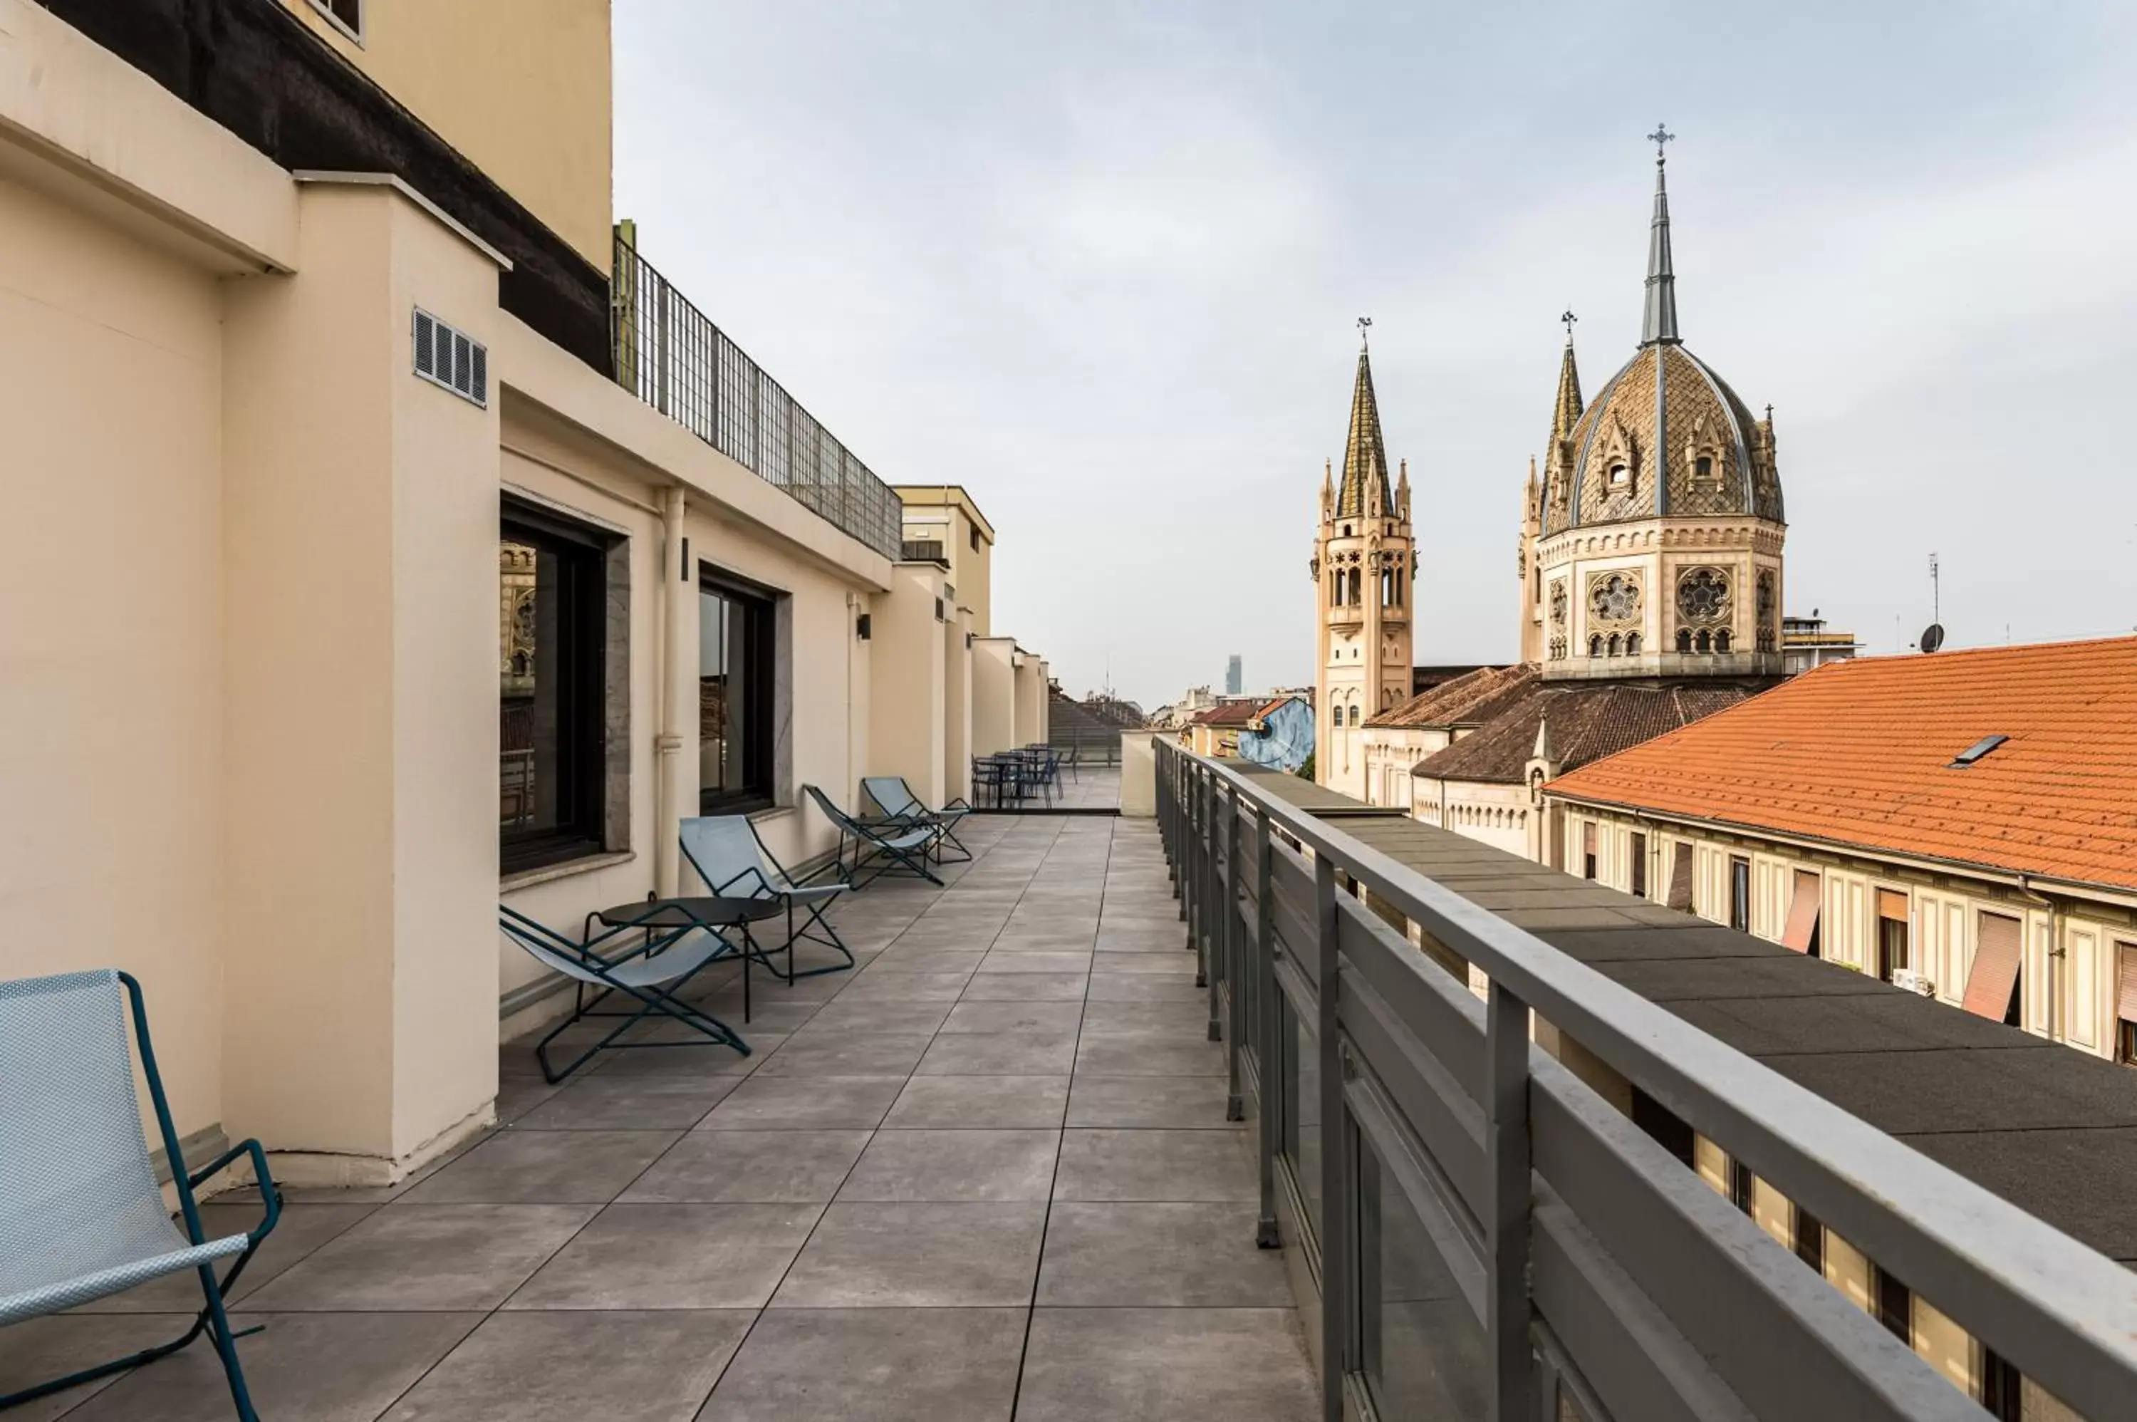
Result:
<svg viewBox="0 0 2137 1422">
<path fill-rule="evenodd" d="M 363 0 L 361 38 L 282 4 L 609 269 L 609 0 Z"/>
</svg>

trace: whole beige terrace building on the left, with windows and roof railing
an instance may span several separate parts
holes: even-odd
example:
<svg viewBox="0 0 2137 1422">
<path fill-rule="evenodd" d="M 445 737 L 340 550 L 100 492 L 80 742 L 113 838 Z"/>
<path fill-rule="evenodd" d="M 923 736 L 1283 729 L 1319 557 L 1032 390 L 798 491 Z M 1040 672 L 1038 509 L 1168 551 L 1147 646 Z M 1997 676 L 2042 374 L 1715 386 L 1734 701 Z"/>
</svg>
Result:
<svg viewBox="0 0 2137 1422">
<path fill-rule="evenodd" d="M 81 530 L 0 573 L 0 977 L 118 958 L 190 1142 L 389 1185 L 568 1005 L 496 902 L 955 791 L 985 565 L 611 235 L 603 0 L 0 11 L 4 483 Z"/>
</svg>

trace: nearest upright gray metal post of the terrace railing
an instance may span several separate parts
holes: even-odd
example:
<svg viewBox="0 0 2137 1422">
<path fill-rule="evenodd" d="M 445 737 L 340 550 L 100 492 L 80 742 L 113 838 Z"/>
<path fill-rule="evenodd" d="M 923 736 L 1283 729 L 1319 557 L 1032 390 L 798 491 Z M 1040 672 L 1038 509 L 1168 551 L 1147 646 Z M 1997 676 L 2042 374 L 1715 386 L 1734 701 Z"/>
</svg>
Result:
<svg viewBox="0 0 2137 1422">
<path fill-rule="evenodd" d="M 1492 1212 L 1485 1221 L 1485 1324 L 1492 1349 L 1492 1420 L 1534 1418 L 1528 1341 L 1528 1003 L 1492 982 L 1485 1003 L 1485 1150 Z"/>
</svg>

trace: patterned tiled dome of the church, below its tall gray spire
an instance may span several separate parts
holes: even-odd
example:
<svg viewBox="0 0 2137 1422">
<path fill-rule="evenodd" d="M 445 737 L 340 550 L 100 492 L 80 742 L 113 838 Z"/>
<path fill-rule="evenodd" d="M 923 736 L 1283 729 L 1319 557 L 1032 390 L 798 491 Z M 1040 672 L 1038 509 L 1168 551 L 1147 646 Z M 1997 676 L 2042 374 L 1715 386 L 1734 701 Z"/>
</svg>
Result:
<svg viewBox="0 0 2137 1422">
<path fill-rule="evenodd" d="M 1581 413 L 1545 532 L 1637 517 L 1782 517 L 1774 430 L 1675 340 L 1641 346 Z"/>
</svg>

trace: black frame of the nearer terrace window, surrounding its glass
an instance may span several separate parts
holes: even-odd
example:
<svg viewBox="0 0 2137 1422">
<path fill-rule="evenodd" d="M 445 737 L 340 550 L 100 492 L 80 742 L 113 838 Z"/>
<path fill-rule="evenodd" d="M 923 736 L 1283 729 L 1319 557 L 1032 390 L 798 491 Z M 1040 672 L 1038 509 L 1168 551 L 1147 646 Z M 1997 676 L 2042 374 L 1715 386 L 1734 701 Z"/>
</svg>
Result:
<svg viewBox="0 0 2137 1422">
<path fill-rule="evenodd" d="M 498 541 L 513 539 L 558 558 L 560 627 L 566 629 L 566 667 L 558 689 L 558 778 L 562 780 L 556 825 L 511 832 L 498 825 L 498 870 L 519 875 L 607 851 L 607 560 L 618 543 L 592 524 L 553 513 L 541 505 L 502 498 Z"/>
</svg>

